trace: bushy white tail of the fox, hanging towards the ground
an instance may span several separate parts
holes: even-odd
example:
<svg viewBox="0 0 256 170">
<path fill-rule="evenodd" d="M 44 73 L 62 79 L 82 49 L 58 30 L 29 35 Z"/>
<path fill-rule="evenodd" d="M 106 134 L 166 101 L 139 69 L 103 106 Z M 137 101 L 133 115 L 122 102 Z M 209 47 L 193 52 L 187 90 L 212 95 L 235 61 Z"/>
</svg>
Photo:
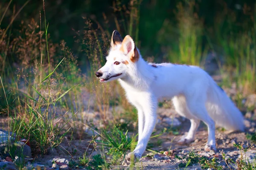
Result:
<svg viewBox="0 0 256 170">
<path fill-rule="evenodd" d="M 244 118 L 227 94 L 209 76 L 207 111 L 216 125 L 227 130 L 244 131 Z"/>
</svg>

